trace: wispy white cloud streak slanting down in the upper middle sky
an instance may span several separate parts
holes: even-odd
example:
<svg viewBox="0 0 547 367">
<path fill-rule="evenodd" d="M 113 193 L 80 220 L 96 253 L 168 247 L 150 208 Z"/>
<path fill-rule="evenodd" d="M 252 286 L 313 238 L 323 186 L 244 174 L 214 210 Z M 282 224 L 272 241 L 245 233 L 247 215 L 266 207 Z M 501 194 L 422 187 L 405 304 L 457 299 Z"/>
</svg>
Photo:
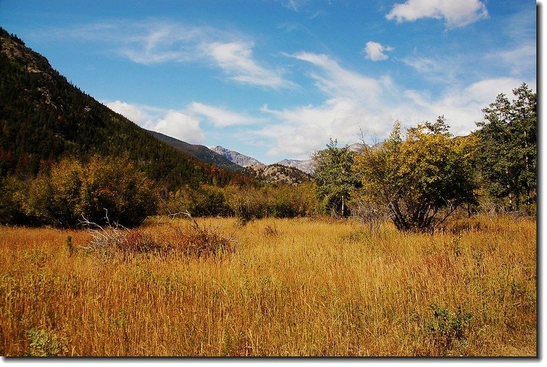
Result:
<svg viewBox="0 0 547 367">
<path fill-rule="evenodd" d="M 202 50 L 233 81 L 274 89 L 295 87 L 283 79 L 281 72 L 265 68 L 253 59 L 252 42 L 212 42 L 203 44 Z"/>
</svg>

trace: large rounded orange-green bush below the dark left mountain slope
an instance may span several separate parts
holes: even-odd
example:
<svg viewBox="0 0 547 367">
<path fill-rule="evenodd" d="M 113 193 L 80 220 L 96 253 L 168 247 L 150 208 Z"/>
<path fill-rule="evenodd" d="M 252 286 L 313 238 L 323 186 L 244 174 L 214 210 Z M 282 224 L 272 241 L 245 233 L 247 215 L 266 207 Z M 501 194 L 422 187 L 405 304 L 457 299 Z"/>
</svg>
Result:
<svg viewBox="0 0 547 367">
<path fill-rule="evenodd" d="M 82 217 L 138 226 L 157 209 L 153 182 L 126 158 L 71 159 L 44 169 L 29 185 L 23 208 L 40 223 L 74 227 Z M 106 217 L 107 216 L 107 217 Z"/>
</svg>

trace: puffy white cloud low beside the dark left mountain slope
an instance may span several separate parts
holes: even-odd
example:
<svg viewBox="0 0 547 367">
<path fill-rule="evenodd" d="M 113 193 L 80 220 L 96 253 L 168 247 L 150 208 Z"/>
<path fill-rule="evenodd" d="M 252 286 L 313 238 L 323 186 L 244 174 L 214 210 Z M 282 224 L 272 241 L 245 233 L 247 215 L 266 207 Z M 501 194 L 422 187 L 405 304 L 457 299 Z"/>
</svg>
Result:
<svg viewBox="0 0 547 367">
<path fill-rule="evenodd" d="M 112 111 L 124 115 L 147 130 L 156 131 L 190 144 L 203 144 L 205 141 L 205 134 L 199 126 L 201 120 L 184 111 L 131 105 L 120 100 L 104 104 Z"/>
</svg>

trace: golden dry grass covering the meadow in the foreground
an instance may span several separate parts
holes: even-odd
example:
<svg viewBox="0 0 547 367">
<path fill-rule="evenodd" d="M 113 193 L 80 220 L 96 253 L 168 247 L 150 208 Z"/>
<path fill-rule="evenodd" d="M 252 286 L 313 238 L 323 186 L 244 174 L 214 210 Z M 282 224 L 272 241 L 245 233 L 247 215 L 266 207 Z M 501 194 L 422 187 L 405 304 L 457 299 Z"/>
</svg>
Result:
<svg viewBox="0 0 547 367">
<path fill-rule="evenodd" d="M 157 219 L 139 235 L 180 226 Z M 0 228 L 0 354 L 537 353 L 535 221 L 481 217 L 434 235 L 317 219 L 206 226 L 236 252 L 71 254 L 67 236 L 77 249 L 90 232 Z"/>
</svg>

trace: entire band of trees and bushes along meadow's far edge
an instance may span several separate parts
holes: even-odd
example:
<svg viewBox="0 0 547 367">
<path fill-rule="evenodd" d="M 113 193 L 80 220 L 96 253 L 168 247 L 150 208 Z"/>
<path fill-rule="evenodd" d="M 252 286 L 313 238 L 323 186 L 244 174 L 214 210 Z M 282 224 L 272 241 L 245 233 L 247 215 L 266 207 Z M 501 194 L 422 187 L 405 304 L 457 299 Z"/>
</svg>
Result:
<svg viewBox="0 0 547 367">
<path fill-rule="evenodd" d="M 314 154 L 315 176 L 301 185 L 203 180 L 173 188 L 152 180 L 130 155 L 42 161 L 34 178 L 0 178 L 0 223 L 138 226 L 149 215 L 189 213 L 262 217 L 357 217 L 371 230 L 385 220 L 402 231 L 439 228 L 458 209 L 535 215 L 536 95 L 525 84 L 500 94 L 467 137 L 453 137 L 443 116 L 403 128 L 380 148 L 355 153 L 336 141 Z"/>
</svg>

